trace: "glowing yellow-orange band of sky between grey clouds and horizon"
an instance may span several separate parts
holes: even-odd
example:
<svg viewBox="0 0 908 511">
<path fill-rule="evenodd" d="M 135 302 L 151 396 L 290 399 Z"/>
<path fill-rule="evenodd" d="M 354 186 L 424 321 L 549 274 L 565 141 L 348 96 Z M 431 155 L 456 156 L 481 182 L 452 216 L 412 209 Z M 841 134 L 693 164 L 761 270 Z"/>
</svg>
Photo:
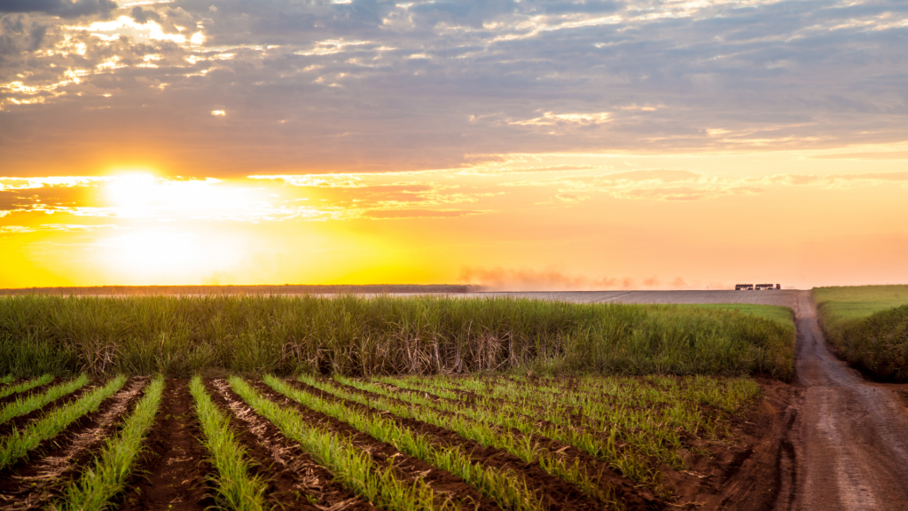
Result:
<svg viewBox="0 0 908 511">
<path fill-rule="evenodd" d="M 3 179 L 16 198 L 0 257 L 15 271 L 0 286 L 908 280 L 903 162 L 815 156 L 508 155 L 397 174 Z"/>
</svg>

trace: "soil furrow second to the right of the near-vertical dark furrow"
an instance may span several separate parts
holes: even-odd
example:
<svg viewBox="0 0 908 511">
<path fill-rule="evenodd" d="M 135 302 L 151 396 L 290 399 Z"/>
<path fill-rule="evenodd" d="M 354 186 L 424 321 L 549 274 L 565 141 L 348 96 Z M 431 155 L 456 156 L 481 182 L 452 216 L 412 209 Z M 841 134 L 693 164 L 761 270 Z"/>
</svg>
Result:
<svg viewBox="0 0 908 511">
<path fill-rule="evenodd" d="M 341 420 L 302 406 L 289 397 L 274 392 L 271 387 L 261 382 L 250 382 L 250 384 L 262 396 L 266 396 L 283 406 L 296 408 L 303 418 L 311 424 L 327 426 L 335 433 L 349 436 L 354 446 L 368 453 L 377 463 L 384 466 L 393 466 L 400 480 L 410 482 L 418 478 L 422 479 L 434 492 L 459 501 L 465 509 L 476 509 L 477 511 L 494 511 L 498 509 L 498 506 L 493 501 L 479 495 L 475 488 L 469 486 L 458 476 L 401 453 L 396 447 L 380 442 Z"/>
</svg>

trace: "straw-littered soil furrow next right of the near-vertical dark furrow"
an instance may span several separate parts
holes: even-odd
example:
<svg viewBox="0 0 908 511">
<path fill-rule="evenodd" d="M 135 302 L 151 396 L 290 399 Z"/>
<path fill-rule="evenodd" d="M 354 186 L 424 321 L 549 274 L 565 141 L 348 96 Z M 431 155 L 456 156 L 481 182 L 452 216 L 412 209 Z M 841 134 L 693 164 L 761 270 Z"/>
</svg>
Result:
<svg viewBox="0 0 908 511">
<path fill-rule="evenodd" d="M 269 483 L 267 495 L 272 504 L 291 509 L 376 509 L 335 482 L 327 468 L 315 463 L 300 446 L 283 436 L 277 426 L 246 406 L 225 380 L 209 380 L 205 386 L 214 402 L 232 415 L 236 438 L 257 464 L 252 468 L 253 473 Z"/>
</svg>

